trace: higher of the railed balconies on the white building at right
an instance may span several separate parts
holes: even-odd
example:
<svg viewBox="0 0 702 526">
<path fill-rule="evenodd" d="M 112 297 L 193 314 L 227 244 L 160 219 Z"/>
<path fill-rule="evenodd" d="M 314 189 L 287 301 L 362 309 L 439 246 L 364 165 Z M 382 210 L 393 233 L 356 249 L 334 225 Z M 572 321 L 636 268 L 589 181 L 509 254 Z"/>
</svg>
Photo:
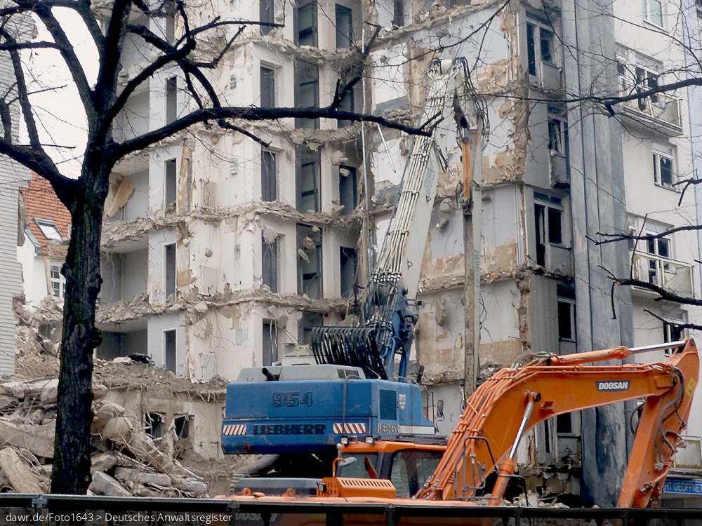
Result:
<svg viewBox="0 0 702 526">
<path fill-rule="evenodd" d="M 636 87 L 632 85 L 630 79 L 620 76 L 619 86 L 621 95 L 632 95 Z M 645 86 L 642 89 L 648 89 Z M 651 100 L 655 98 L 654 100 Z M 621 115 L 625 122 L 644 130 L 658 130 L 668 137 L 678 137 L 682 135 L 682 121 L 680 120 L 680 99 L 670 97 L 665 93 L 657 93 L 654 97 L 646 97 L 643 100 L 628 100 L 622 102 Z"/>
</svg>

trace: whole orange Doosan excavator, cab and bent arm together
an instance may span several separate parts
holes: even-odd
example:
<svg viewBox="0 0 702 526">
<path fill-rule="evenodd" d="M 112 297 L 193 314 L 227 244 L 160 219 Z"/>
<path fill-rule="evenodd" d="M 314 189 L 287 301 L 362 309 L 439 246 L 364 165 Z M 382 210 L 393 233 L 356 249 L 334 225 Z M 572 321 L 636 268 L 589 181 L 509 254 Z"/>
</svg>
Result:
<svg viewBox="0 0 702 526">
<path fill-rule="evenodd" d="M 670 353 L 664 362 L 609 365 L 608 360 L 663 349 Z M 241 505 L 267 501 L 272 511 L 277 504 L 284 507 L 291 501 L 310 505 L 358 503 L 361 507 L 371 503 L 416 504 L 438 509 L 472 506 L 481 498 L 498 506 L 508 481 L 515 476 L 519 441 L 534 426 L 557 414 L 642 399 L 618 506 L 654 507 L 673 454 L 682 443 L 680 433 L 686 427 L 698 372 L 693 339 L 560 356 L 525 354 L 472 393 L 445 446 L 369 440 L 349 443 L 340 447 L 333 476 L 317 480 L 313 494 L 296 489 L 294 479 L 289 479 L 283 483 L 289 486 L 273 495 L 261 491 L 260 485 L 256 487 L 260 479 L 251 479 L 240 481 L 239 493 L 227 499 Z M 402 469 L 393 467 L 387 459 L 404 460 Z M 489 477 L 491 473 L 494 475 Z M 437 513 L 439 516 L 442 518 L 434 522 L 425 517 L 417 524 L 453 523 L 444 513 Z M 381 519 L 350 515 L 345 524 L 384 523 Z M 468 523 L 462 521 L 456 523 Z M 324 516 L 289 513 L 279 515 L 276 522 L 290 526 L 328 523 Z"/>
</svg>

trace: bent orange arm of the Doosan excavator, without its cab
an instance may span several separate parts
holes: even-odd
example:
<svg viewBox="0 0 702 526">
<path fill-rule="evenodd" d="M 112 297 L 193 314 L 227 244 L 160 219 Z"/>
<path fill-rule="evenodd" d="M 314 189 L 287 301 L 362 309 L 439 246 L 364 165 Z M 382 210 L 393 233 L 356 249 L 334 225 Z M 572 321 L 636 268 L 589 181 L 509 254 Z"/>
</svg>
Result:
<svg viewBox="0 0 702 526">
<path fill-rule="evenodd" d="M 663 363 L 585 365 L 658 349 L 674 352 Z M 644 508 L 656 501 L 698 381 L 694 340 L 528 358 L 523 367 L 500 370 L 468 398 L 442 461 L 418 497 L 470 499 L 496 469 L 490 504 L 497 505 L 514 472 L 519 440 L 536 424 L 557 414 L 646 398 L 618 505 Z"/>
</svg>

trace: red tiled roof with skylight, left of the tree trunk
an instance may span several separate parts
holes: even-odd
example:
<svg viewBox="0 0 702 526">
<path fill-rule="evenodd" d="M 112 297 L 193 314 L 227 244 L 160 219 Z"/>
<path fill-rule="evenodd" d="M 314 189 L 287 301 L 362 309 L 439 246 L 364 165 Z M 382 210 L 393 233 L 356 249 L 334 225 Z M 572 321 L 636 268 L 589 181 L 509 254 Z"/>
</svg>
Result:
<svg viewBox="0 0 702 526">
<path fill-rule="evenodd" d="M 42 247 L 48 245 L 49 241 L 41 231 L 34 219 L 53 221 L 63 237 L 68 237 L 71 215 L 67 208 L 59 201 L 53 191 L 51 184 L 36 173 L 32 172 L 32 180 L 27 188 L 20 188 L 25 198 L 25 210 L 27 220 L 25 228 L 34 234 Z"/>
</svg>

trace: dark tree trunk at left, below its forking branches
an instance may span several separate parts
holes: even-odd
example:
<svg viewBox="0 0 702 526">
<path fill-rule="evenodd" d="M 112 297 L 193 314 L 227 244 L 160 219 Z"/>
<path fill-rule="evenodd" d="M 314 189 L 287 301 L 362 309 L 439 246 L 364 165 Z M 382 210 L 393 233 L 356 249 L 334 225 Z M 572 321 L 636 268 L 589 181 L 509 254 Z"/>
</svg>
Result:
<svg viewBox="0 0 702 526">
<path fill-rule="evenodd" d="M 84 168 L 84 172 L 86 168 Z M 86 174 L 84 174 L 86 175 Z M 91 483 L 90 427 L 93 422 L 93 349 L 100 344 L 95 302 L 100 292 L 100 233 L 104 198 L 98 198 L 94 175 L 81 177 L 75 196 L 71 241 L 62 269 L 66 276 L 63 339 L 58 381 L 58 414 L 51 492 L 86 494 Z"/>
</svg>

